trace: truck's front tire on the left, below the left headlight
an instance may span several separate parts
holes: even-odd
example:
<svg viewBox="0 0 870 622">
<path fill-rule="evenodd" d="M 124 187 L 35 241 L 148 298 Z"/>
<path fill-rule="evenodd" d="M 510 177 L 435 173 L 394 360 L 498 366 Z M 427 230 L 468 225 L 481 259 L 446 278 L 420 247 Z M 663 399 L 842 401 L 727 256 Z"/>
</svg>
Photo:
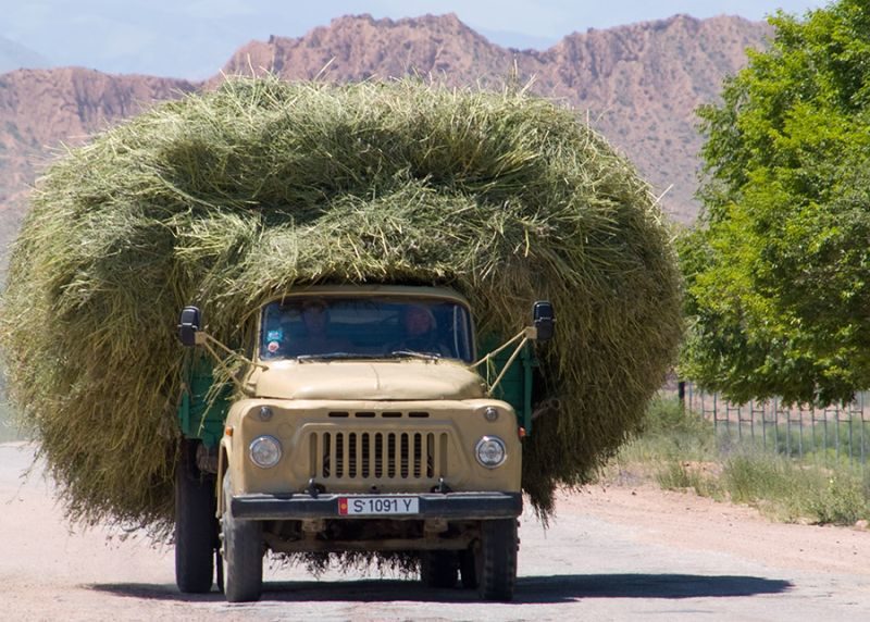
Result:
<svg viewBox="0 0 870 622">
<path fill-rule="evenodd" d="M 229 474 L 224 476 L 225 508 L 221 518 L 224 596 L 229 602 L 259 600 L 263 593 L 263 526 L 233 517 Z"/>
</svg>

